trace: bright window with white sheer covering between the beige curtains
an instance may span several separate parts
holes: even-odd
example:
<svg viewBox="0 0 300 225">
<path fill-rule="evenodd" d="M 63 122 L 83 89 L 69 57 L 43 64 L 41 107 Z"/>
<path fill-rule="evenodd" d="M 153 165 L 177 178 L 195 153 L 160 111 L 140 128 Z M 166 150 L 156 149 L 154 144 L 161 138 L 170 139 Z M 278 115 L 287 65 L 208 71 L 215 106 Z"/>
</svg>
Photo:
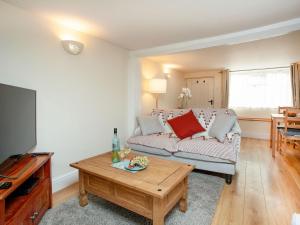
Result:
<svg viewBox="0 0 300 225">
<path fill-rule="evenodd" d="M 231 72 L 229 106 L 277 108 L 292 105 L 289 68 Z"/>
</svg>

